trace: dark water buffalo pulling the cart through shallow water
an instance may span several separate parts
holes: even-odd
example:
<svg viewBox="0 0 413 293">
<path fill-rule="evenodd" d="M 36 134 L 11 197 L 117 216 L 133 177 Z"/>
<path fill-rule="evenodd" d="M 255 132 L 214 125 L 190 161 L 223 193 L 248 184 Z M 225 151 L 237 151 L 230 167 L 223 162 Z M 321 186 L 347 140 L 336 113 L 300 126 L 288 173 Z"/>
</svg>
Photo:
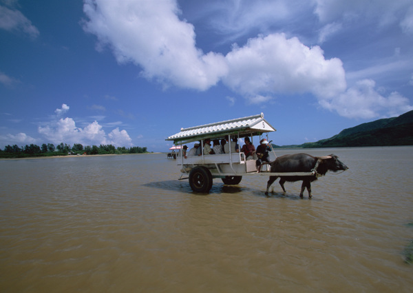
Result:
<svg viewBox="0 0 413 293">
<path fill-rule="evenodd" d="M 318 176 L 325 175 L 327 171 L 338 172 L 347 170 L 348 167 L 344 165 L 334 154 L 330 156 L 310 156 L 309 154 L 286 154 L 279 156 L 273 163 L 271 163 L 271 172 L 312 172 L 316 168 L 317 173 L 313 176 L 270 176 L 267 183 L 267 190 L 265 194 L 268 196 L 268 189 L 271 184 L 279 177 L 279 185 L 282 190 L 286 192 L 284 183 L 303 181 L 301 185 L 301 192 L 299 196 L 303 197 L 304 189 L 307 188 L 308 198 L 311 199 L 311 182 L 316 181 Z"/>
</svg>

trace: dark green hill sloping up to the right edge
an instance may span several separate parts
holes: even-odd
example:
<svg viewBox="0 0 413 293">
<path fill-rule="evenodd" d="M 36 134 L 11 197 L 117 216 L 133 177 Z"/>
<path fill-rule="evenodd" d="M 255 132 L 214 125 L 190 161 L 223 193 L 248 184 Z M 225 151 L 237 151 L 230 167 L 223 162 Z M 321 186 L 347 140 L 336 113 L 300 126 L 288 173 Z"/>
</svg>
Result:
<svg viewBox="0 0 413 293">
<path fill-rule="evenodd" d="M 297 148 L 413 145 L 413 111 L 347 128 L 330 139 L 296 145 Z"/>
</svg>

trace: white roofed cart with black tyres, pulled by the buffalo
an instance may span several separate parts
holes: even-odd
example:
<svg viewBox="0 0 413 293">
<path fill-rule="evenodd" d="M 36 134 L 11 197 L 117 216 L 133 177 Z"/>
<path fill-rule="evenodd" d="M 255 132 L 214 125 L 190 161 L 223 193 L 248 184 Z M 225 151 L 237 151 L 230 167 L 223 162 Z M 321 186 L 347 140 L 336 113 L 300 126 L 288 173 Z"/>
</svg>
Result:
<svg viewBox="0 0 413 293">
<path fill-rule="evenodd" d="M 220 178 L 226 185 L 236 185 L 241 182 L 242 176 L 313 176 L 312 172 L 291 172 L 273 173 L 270 172 L 270 165 L 262 165 L 260 172 L 256 167 L 255 159 L 247 159 L 244 152 L 231 152 L 225 154 L 204 154 L 204 141 L 206 139 L 226 139 L 249 137 L 253 143 L 253 137 L 261 137 L 268 132 L 276 131 L 268 121 L 264 119 L 264 114 L 250 117 L 232 119 L 217 123 L 195 126 L 192 128 L 182 128 L 177 134 L 168 137 L 167 141 L 173 141 L 174 145 L 187 143 L 199 143 L 202 152 L 195 156 L 177 156 L 176 163 L 180 168 L 179 180 L 189 179 L 189 185 L 194 192 L 209 192 L 213 179 Z M 271 144 L 270 144 L 271 145 Z M 275 152 L 271 145 L 271 156 Z M 273 157 L 273 159 L 275 159 Z"/>
</svg>

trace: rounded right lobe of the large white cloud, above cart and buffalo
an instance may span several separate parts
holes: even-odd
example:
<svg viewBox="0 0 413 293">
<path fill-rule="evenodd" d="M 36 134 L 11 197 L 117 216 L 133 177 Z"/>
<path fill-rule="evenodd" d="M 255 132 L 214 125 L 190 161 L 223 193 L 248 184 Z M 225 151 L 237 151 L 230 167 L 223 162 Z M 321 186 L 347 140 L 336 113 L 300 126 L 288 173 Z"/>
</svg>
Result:
<svg viewBox="0 0 413 293">
<path fill-rule="evenodd" d="M 249 39 L 226 55 L 229 74 L 224 83 L 248 97 L 277 92 L 311 92 L 332 97 L 346 89 L 339 59 L 324 59 L 318 46 L 308 48 L 284 34 Z"/>
</svg>

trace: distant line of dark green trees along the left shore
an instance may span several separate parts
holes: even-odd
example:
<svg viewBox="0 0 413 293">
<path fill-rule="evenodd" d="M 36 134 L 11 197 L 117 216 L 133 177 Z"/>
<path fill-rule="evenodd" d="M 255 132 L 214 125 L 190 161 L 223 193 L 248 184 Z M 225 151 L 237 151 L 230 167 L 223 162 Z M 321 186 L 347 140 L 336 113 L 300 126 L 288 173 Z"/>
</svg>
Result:
<svg viewBox="0 0 413 293">
<path fill-rule="evenodd" d="M 0 157 L 2 158 L 19 158 L 25 156 L 65 156 L 70 154 L 142 154 L 147 152 L 147 148 L 141 147 L 118 147 L 114 145 L 83 145 L 74 143 L 71 147 L 67 143 L 54 145 L 53 143 L 43 143 L 41 146 L 30 144 L 21 148 L 18 145 L 6 145 L 4 150 L 0 149 Z"/>
</svg>

